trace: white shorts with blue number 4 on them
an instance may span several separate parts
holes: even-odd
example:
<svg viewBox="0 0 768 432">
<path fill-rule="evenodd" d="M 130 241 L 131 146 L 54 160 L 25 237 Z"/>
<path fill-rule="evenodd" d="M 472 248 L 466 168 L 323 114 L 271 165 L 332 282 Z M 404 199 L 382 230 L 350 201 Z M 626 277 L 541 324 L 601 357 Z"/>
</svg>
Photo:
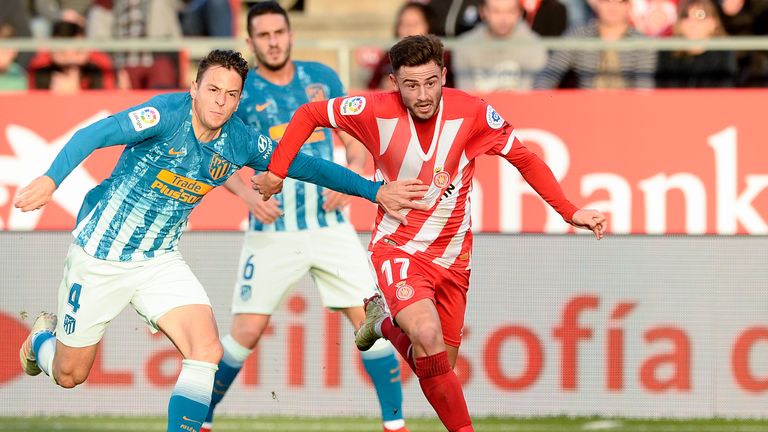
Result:
<svg viewBox="0 0 768 432">
<path fill-rule="evenodd" d="M 94 258 L 71 245 L 59 286 L 56 338 L 70 347 L 95 345 L 128 304 L 155 333 L 157 320 L 171 309 L 211 302 L 178 251 L 120 262 Z"/>
</svg>

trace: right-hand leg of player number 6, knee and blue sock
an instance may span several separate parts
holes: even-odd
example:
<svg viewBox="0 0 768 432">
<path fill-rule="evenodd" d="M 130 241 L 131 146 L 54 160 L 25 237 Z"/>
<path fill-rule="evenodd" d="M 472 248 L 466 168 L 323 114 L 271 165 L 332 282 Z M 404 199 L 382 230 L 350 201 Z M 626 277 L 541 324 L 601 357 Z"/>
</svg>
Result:
<svg viewBox="0 0 768 432">
<path fill-rule="evenodd" d="M 341 309 L 357 332 L 365 321 L 362 306 Z M 400 383 L 400 362 L 392 345 L 379 339 L 370 349 L 360 352 L 363 367 L 373 382 L 381 407 L 384 432 L 408 432 L 403 418 L 403 390 Z"/>
</svg>

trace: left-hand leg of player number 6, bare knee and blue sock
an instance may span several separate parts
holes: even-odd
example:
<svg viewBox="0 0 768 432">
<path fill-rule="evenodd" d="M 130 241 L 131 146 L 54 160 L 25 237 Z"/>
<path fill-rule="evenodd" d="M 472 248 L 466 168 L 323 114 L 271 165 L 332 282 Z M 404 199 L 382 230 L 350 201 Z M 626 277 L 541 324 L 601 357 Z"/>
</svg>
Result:
<svg viewBox="0 0 768 432">
<path fill-rule="evenodd" d="M 213 394 L 211 396 L 211 406 L 208 408 L 208 415 L 200 432 L 210 432 L 213 428 L 213 414 L 216 405 L 221 402 L 224 395 L 227 394 L 232 382 L 235 381 L 243 363 L 256 348 L 261 336 L 269 325 L 270 315 L 239 313 L 232 319 L 232 327 L 229 334 L 221 340 L 224 348 L 224 355 L 219 362 L 219 370 L 216 371 L 216 377 L 213 382 Z"/>
</svg>

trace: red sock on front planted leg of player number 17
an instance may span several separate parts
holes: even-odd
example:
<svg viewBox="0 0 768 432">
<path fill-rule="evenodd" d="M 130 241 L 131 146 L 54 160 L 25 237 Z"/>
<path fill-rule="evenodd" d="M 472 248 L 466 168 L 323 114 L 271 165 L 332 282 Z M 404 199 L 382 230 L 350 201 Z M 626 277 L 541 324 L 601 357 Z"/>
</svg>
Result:
<svg viewBox="0 0 768 432">
<path fill-rule="evenodd" d="M 416 376 L 424 396 L 449 431 L 474 431 L 464 392 L 448 362 L 447 352 L 417 358 Z"/>
</svg>

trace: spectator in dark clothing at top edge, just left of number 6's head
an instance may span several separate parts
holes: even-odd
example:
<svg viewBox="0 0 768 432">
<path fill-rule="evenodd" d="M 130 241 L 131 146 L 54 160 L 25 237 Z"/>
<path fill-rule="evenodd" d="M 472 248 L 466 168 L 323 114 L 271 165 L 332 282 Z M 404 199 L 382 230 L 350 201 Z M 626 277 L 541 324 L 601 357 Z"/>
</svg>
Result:
<svg viewBox="0 0 768 432">
<path fill-rule="evenodd" d="M 229 0 L 184 0 L 179 19 L 184 36 L 235 35 Z"/>
</svg>

